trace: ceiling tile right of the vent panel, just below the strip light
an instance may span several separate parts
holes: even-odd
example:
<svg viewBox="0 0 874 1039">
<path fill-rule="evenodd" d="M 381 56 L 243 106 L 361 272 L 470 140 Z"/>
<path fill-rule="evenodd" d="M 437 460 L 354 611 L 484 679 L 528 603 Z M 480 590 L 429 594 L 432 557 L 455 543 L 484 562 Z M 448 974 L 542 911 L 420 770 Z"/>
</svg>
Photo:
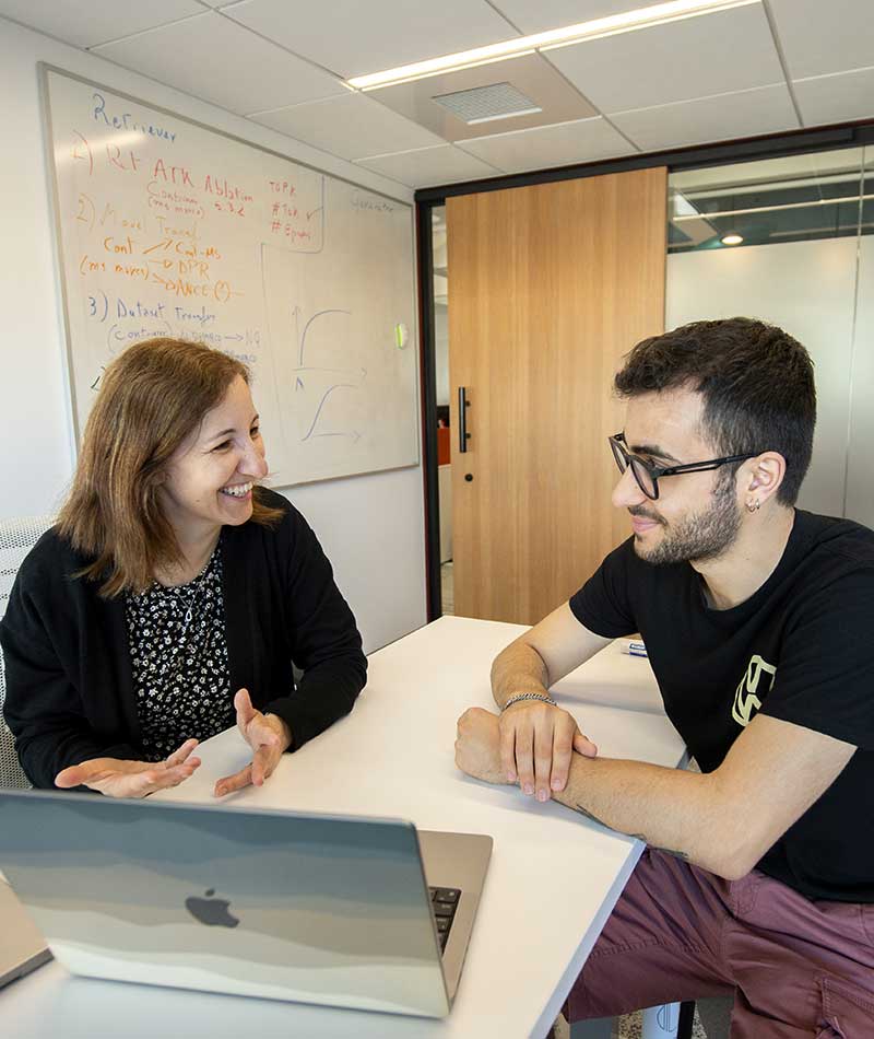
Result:
<svg viewBox="0 0 874 1039">
<path fill-rule="evenodd" d="M 545 57 L 607 114 L 784 81 L 759 4 L 591 39 Z"/>
</svg>

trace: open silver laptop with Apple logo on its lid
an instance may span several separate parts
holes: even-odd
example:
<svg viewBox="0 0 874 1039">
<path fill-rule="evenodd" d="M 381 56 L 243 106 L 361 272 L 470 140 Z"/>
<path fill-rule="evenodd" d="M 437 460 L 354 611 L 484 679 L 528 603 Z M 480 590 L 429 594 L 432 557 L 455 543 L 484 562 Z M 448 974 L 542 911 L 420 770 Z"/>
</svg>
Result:
<svg viewBox="0 0 874 1039">
<path fill-rule="evenodd" d="M 55 957 L 146 984 L 442 1017 L 491 852 L 391 819 L 0 792 L 0 869 Z"/>
</svg>

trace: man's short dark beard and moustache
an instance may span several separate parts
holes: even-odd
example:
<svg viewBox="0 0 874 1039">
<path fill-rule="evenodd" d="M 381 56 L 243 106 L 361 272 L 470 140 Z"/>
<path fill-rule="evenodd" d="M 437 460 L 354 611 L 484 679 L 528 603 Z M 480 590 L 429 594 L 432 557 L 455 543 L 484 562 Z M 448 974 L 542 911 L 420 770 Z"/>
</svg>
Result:
<svg viewBox="0 0 874 1039">
<path fill-rule="evenodd" d="M 637 554 L 654 567 L 717 559 L 731 548 L 741 529 L 741 509 L 734 497 L 733 481 L 717 488 L 709 509 L 687 516 L 675 525 L 669 525 L 661 516 L 640 506 L 628 512 L 633 516 L 654 520 L 664 527 L 662 540 L 649 551 L 642 548 L 639 538 L 635 538 Z"/>
</svg>

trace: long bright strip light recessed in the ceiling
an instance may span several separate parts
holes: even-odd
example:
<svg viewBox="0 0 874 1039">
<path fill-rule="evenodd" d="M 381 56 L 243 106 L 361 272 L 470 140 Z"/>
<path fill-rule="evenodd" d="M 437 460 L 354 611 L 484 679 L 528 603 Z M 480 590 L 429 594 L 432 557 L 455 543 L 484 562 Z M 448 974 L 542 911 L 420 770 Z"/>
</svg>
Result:
<svg viewBox="0 0 874 1039">
<path fill-rule="evenodd" d="M 646 28 L 650 25 L 662 25 L 666 22 L 676 22 L 699 14 L 712 14 L 716 11 L 729 11 L 732 8 L 744 8 L 758 2 L 759 0 L 669 0 L 666 3 L 657 3 L 649 8 L 637 8 L 634 11 L 623 11 L 621 14 L 611 14 L 607 17 L 578 22 L 576 25 L 567 25 L 565 28 L 552 28 L 548 32 L 535 33 L 532 36 L 517 36 L 515 39 L 489 44 L 486 47 L 476 47 L 473 50 L 461 50 L 458 54 L 446 55 L 442 58 L 429 58 L 427 61 L 402 65 L 397 69 L 387 69 L 385 72 L 355 75 L 346 80 L 346 84 L 355 90 L 375 90 L 378 86 L 390 86 L 397 83 L 406 83 L 411 80 L 425 79 L 440 72 L 457 72 L 460 69 L 470 69 L 477 65 L 504 61 L 506 58 L 518 58 L 522 55 L 533 54 L 535 50 L 565 47 L 568 44 L 578 44 L 586 39 L 614 36 L 617 33 L 630 33 L 634 30 Z"/>
</svg>

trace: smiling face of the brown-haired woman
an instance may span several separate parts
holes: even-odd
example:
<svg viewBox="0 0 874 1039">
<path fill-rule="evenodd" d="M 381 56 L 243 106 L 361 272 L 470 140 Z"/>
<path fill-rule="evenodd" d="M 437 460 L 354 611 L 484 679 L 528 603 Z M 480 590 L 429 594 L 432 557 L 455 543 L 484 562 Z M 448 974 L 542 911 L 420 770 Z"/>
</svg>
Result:
<svg viewBox="0 0 874 1039">
<path fill-rule="evenodd" d="M 249 387 L 237 376 L 220 405 L 176 448 L 161 488 L 164 515 L 180 541 L 238 526 L 252 514 L 252 483 L 267 476 L 264 444 Z"/>
</svg>

